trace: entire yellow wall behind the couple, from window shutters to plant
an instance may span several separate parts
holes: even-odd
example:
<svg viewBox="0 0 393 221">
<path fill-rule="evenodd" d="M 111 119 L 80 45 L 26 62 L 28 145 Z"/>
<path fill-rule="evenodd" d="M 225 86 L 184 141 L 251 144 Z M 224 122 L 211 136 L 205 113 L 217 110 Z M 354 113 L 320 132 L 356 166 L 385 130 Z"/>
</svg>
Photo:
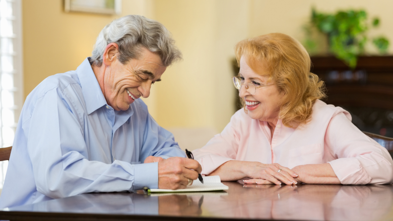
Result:
<svg viewBox="0 0 393 221">
<path fill-rule="evenodd" d="M 144 99 L 150 113 L 164 127 L 222 130 L 235 111 L 234 45 L 270 32 L 302 40 L 313 5 L 325 12 L 364 8 L 382 22 L 370 35 L 383 33 L 393 43 L 390 0 L 123 0 L 120 16 L 140 14 L 163 23 L 184 55 Z M 100 30 L 120 17 L 65 13 L 63 0 L 23 0 L 22 6 L 25 96 L 47 76 L 76 69 L 91 55 Z"/>
</svg>

